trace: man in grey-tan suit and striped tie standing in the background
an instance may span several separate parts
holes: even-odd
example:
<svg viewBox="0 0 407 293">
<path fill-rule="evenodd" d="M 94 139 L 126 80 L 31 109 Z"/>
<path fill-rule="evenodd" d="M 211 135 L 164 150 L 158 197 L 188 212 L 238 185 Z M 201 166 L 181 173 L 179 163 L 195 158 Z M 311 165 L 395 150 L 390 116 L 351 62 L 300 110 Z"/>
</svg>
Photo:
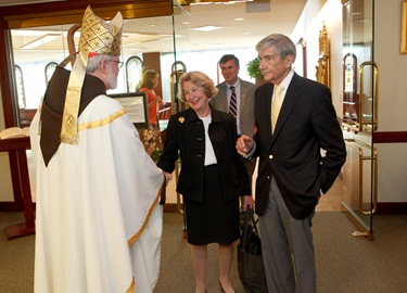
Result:
<svg viewBox="0 0 407 293">
<path fill-rule="evenodd" d="M 220 82 L 216 87 L 218 93 L 215 94 L 209 103 L 211 105 L 222 112 L 230 112 L 230 100 L 232 90 L 234 87 L 237 98 L 237 127 L 238 136 L 246 135 L 253 137 L 254 135 L 254 91 L 256 85 L 245 81 L 239 77 L 240 64 L 239 59 L 232 54 L 222 55 L 219 60 L 219 67 L 225 81 Z M 252 176 L 256 166 L 256 161 L 245 161 L 250 181 L 252 182 Z"/>
</svg>

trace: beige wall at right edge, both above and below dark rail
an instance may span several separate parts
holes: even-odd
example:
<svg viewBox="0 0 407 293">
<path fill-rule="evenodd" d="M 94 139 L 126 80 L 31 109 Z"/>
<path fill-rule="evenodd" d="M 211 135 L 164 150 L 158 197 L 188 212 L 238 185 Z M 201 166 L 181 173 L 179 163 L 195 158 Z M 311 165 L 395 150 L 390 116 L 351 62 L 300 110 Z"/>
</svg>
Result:
<svg viewBox="0 0 407 293">
<path fill-rule="evenodd" d="M 374 61 L 379 67 L 378 131 L 407 131 L 407 54 L 399 53 L 400 0 L 377 0 Z M 407 202 L 407 143 L 376 144 L 379 202 Z"/>
</svg>

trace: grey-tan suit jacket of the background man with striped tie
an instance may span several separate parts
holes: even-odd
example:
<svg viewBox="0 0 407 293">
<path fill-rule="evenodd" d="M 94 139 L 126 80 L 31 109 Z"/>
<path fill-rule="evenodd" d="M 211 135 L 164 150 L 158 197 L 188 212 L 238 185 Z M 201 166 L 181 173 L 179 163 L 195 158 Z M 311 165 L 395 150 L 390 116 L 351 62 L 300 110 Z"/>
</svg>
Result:
<svg viewBox="0 0 407 293">
<path fill-rule="evenodd" d="M 215 94 L 209 103 L 216 110 L 222 112 L 229 112 L 227 85 L 220 82 L 216 86 L 218 88 L 217 94 Z M 254 91 L 256 85 L 240 79 L 240 130 L 241 135 L 253 137 L 254 135 Z"/>
</svg>

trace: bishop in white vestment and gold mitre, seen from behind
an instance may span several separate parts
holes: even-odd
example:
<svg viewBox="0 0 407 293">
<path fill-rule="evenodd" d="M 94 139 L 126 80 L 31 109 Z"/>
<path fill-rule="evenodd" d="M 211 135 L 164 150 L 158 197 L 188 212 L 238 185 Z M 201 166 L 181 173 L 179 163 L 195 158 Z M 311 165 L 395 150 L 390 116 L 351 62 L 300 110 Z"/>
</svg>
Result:
<svg viewBox="0 0 407 293">
<path fill-rule="evenodd" d="M 87 47 L 94 25 L 111 46 L 103 36 Z M 119 13 L 107 24 L 87 9 L 75 65 L 55 69 L 31 123 L 37 293 L 151 293 L 157 282 L 165 179 L 105 92 L 117 81 L 122 26 Z"/>
</svg>

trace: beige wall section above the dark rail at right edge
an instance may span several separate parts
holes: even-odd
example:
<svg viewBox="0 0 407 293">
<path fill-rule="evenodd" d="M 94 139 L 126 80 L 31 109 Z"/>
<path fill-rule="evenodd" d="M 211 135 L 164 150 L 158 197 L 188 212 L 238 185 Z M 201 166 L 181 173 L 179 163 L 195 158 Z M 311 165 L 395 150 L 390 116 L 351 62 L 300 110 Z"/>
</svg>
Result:
<svg viewBox="0 0 407 293">
<path fill-rule="evenodd" d="M 377 0 L 374 55 L 379 67 L 379 131 L 407 130 L 407 54 L 399 53 L 400 0 Z"/>
</svg>

